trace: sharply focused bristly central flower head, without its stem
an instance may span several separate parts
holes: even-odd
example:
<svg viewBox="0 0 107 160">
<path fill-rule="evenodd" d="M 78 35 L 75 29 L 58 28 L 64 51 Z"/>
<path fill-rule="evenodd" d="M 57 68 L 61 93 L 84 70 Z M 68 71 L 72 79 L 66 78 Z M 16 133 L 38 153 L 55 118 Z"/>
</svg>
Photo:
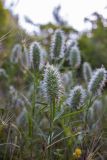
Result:
<svg viewBox="0 0 107 160">
<path fill-rule="evenodd" d="M 60 73 L 53 65 L 47 64 L 46 66 L 43 80 L 43 92 L 48 102 L 52 100 L 59 101 L 63 94 Z"/>
</svg>

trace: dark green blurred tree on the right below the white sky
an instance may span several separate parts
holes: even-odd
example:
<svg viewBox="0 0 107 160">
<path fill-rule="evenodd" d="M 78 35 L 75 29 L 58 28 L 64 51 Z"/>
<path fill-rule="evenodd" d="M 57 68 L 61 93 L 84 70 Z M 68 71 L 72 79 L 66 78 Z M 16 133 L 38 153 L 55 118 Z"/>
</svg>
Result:
<svg viewBox="0 0 107 160">
<path fill-rule="evenodd" d="M 79 39 L 83 59 L 92 66 L 102 64 L 107 67 L 107 20 L 98 13 L 93 13 L 94 20 L 85 19 L 92 24 L 92 29 L 82 34 Z"/>
</svg>

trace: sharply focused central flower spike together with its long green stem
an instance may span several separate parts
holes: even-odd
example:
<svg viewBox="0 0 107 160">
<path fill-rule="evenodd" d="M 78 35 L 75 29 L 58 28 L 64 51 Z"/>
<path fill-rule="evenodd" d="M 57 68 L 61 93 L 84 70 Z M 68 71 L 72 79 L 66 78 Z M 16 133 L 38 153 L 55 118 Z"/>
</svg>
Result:
<svg viewBox="0 0 107 160">
<path fill-rule="evenodd" d="M 56 115 L 56 104 L 60 102 L 60 98 L 62 97 L 64 90 L 60 73 L 53 65 L 47 64 L 46 66 L 42 88 L 44 97 L 50 107 L 49 144 L 51 144 L 54 129 L 54 118 Z M 50 159 L 52 159 L 52 148 L 49 150 L 49 155 Z"/>
</svg>

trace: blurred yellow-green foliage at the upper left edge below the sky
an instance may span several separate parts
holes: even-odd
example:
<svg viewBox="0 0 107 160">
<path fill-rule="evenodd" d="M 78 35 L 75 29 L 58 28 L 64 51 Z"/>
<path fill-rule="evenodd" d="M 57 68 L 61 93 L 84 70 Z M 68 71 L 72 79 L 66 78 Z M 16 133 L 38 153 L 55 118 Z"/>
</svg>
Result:
<svg viewBox="0 0 107 160">
<path fill-rule="evenodd" d="M 24 43 L 24 37 L 29 35 L 18 24 L 18 16 L 4 7 L 5 1 L 0 1 L 0 65 L 11 54 L 14 44 Z"/>
</svg>

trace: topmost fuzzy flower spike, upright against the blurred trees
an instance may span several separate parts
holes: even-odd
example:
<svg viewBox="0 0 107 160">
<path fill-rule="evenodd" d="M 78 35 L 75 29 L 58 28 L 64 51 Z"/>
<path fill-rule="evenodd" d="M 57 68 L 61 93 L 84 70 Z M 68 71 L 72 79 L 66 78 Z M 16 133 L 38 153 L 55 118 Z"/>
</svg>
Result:
<svg viewBox="0 0 107 160">
<path fill-rule="evenodd" d="M 51 58 L 59 59 L 64 57 L 64 43 L 65 37 L 61 30 L 56 30 L 51 41 Z"/>
</svg>

